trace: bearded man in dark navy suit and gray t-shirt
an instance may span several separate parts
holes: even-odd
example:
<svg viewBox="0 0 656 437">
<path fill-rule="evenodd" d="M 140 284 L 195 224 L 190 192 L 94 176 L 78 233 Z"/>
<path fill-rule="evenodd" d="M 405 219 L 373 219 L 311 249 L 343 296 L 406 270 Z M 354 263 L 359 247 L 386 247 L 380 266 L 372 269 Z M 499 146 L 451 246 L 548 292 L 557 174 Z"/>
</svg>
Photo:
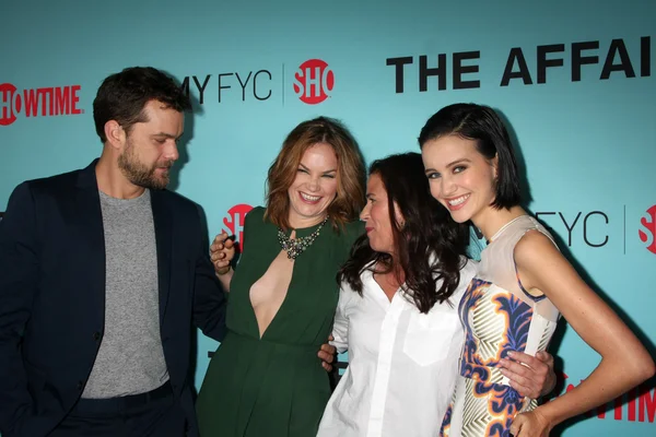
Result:
<svg viewBox="0 0 656 437">
<path fill-rule="evenodd" d="M 107 78 L 89 167 L 21 184 L 0 222 L 2 437 L 196 436 L 196 324 L 225 298 L 199 209 L 165 190 L 189 101 L 152 68 Z"/>
</svg>

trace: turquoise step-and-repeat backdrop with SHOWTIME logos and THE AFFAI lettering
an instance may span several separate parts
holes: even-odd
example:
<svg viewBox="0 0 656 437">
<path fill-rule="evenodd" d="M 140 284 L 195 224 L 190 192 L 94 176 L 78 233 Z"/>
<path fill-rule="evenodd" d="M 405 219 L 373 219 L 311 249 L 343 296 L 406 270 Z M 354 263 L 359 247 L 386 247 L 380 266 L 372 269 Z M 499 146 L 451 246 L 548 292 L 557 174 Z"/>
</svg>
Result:
<svg viewBox="0 0 656 437">
<path fill-rule="evenodd" d="M 172 188 L 203 206 L 210 235 L 238 239 L 302 120 L 341 119 L 371 162 L 419 151 L 442 106 L 482 103 L 512 127 L 529 210 L 654 353 L 654 1 L 10 0 L 0 13 L 0 211 L 21 181 L 98 156 L 95 92 L 129 66 L 192 96 Z M 565 324 L 561 392 L 599 362 Z M 198 387 L 215 347 L 199 334 Z M 655 435 L 654 387 L 563 435 Z"/>
</svg>

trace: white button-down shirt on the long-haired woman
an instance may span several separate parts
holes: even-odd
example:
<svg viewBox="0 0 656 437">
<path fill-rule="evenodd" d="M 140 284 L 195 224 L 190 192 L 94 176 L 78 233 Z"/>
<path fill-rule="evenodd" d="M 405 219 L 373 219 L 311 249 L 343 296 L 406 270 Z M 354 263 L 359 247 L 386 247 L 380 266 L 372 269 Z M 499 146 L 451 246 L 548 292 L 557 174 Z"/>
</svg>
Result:
<svg viewBox="0 0 656 437">
<path fill-rule="evenodd" d="M 328 401 L 318 437 L 434 437 L 453 395 L 464 331 L 458 304 L 476 272 L 468 261 L 449 303 L 421 314 L 391 302 L 368 270 L 363 296 L 342 284 L 333 344 L 349 367 Z"/>
</svg>

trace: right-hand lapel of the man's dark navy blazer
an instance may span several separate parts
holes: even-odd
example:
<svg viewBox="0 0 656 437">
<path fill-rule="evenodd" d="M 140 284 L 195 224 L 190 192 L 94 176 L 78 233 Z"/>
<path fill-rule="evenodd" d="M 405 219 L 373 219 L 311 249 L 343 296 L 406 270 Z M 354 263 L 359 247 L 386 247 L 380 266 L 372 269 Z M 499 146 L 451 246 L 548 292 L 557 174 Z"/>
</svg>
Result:
<svg viewBox="0 0 656 437">
<path fill-rule="evenodd" d="M 171 211 L 164 199 L 164 191 L 151 190 L 155 241 L 157 247 L 157 283 L 160 288 L 160 323 L 166 314 L 168 288 L 171 283 L 171 255 L 173 222 Z"/>
</svg>

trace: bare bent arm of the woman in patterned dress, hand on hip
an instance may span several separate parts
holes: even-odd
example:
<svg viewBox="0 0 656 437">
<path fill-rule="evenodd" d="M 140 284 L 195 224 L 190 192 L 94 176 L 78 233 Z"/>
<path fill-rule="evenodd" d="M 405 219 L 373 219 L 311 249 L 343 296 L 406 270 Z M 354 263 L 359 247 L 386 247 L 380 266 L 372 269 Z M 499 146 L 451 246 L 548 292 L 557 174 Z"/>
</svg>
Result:
<svg viewBox="0 0 656 437">
<path fill-rule="evenodd" d="M 601 355 L 597 368 L 578 387 L 519 414 L 511 428 L 516 437 L 546 436 L 560 422 L 607 403 L 654 375 L 654 361 L 645 347 L 544 235 L 525 235 L 515 248 L 515 260 L 524 286 L 544 293 Z"/>
</svg>

